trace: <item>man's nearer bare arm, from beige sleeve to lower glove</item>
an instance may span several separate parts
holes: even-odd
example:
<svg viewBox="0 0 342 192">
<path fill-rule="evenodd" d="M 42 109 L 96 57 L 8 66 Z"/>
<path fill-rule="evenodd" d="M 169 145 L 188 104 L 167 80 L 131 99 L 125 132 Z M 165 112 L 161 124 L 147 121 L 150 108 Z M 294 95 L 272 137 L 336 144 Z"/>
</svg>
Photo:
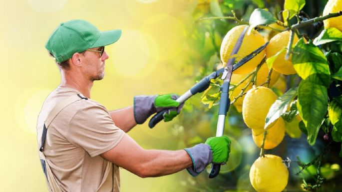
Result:
<svg viewBox="0 0 342 192">
<path fill-rule="evenodd" d="M 145 150 L 128 135 L 101 157 L 142 178 L 170 175 L 193 165 L 185 150 Z"/>
</svg>

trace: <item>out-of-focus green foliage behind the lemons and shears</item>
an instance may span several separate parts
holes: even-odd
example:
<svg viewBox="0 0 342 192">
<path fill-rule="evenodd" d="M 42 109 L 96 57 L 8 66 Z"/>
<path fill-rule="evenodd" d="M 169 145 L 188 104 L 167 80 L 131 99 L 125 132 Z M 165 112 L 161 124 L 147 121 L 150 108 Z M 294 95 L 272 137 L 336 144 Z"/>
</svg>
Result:
<svg viewBox="0 0 342 192">
<path fill-rule="evenodd" d="M 301 12 L 301 14 L 307 13 L 306 16 L 309 18 L 320 16 L 326 3 L 327 0 L 307 0 L 303 7 L 304 12 Z M 287 8 L 296 9 L 296 7 L 288 5 Z M 220 7 L 220 9 L 218 7 Z M 284 0 L 198 0 L 196 9 L 193 12 L 194 23 L 191 26 L 192 30 L 187 34 L 190 40 L 188 45 L 190 50 L 188 50 L 187 53 L 189 60 L 182 68 L 183 74 L 187 78 L 192 79 L 193 84 L 222 67 L 222 62 L 220 60 L 220 43 L 224 35 L 232 27 L 237 25 L 236 21 L 231 19 L 202 20 L 201 18 L 236 16 L 237 18 L 240 18 L 242 22 L 246 22 L 256 8 L 264 8 L 271 12 L 274 17 L 283 21 L 283 13 L 280 11 L 284 9 Z M 301 7 L 297 8 L 298 10 L 301 9 Z M 296 21 L 297 20 L 293 18 L 290 20 L 290 23 L 293 24 Z M 303 27 L 300 31 L 313 39 L 319 36 L 323 30 L 322 26 L 323 24 L 318 22 L 314 25 Z M 259 30 L 259 32 L 265 36 L 266 40 L 274 36 L 272 31 L 267 29 Z M 334 44 L 326 43 L 321 47 L 326 50 L 334 50 L 334 54 L 328 52 L 328 54 L 330 54 L 329 57 L 335 59 L 334 61 L 340 61 L 338 54 L 340 54 L 342 50 L 341 44 L 341 42 L 335 42 Z M 191 69 L 191 71 L 189 71 L 189 69 Z M 340 67 L 334 71 L 337 79 L 340 78 L 338 69 L 340 69 Z M 283 95 L 283 93 L 291 87 L 297 87 L 301 80 L 299 75 L 281 76 L 281 79 L 285 84 L 277 84 L 272 88 L 278 96 Z M 218 93 L 220 93 L 220 84 L 222 84 L 222 82 L 212 81 L 210 86 L 211 89 L 208 89 L 207 92 L 203 94 L 205 96 L 202 96 L 201 98 L 201 94 L 197 94 L 186 101 L 184 110 L 182 110 L 178 119 L 179 125 L 184 128 L 182 129 L 184 134 L 182 139 L 186 146 L 204 142 L 207 137 L 215 136 L 218 119 L 217 104 L 219 102 Z M 234 85 L 232 86 L 234 87 Z M 303 132 L 306 132 L 307 129 L 303 121 L 298 118 L 299 116 L 296 117 L 296 115 L 298 115 L 297 100 L 290 103 L 291 100 L 289 100 L 289 103 L 286 106 L 286 108 L 289 108 L 290 110 L 283 115 L 288 121 L 286 130 L 288 135 L 277 148 L 269 150 L 269 153 L 278 155 L 283 159 L 286 159 L 287 157 L 293 160 L 300 158 L 301 161 L 309 163 L 315 157 L 319 156 L 322 153 L 324 146 L 328 144 L 328 141 L 324 139 L 324 136 L 327 135 L 329 129 L 322 128 L 322 131 L 318 133 L 315 145 L 310 146 L 306 139 L 307 136 L 299 131 L 300 128 Z M 299 132 L 293 128 L 293 125 L 295 124 L 295 127 Z M 208 174 L 200 174 L 196 178 L 189 176 L 182 182 L 189 191 L 254 192 L 249 181 L 249 170 L 253 162 L 257 159 L 260 149 L 255 146 L 252 140 L 251 130 L 244 124 L 241 113 L 233 106 L 230 106 L 226 117 L 224 134 L 237 142 L 232 142 L 232 149 L 236 150 L 235 154 L 241 156 L 241 159 L 237 158 L 232 160 L 231 158 L 235 156 L 235 154 L 232 154 L 229 161 L 232 161 L 230 163 L 235 166 L 231 165 L 232 169 L 227 169 L 228 171 L 220 173 L 220 175 L 213 180 L 207 179 Z M 234 144 L 238 146 L 236 149 L 234 148 Z M 321 166 L 318 166 L 318 164 L 315 163 L 309 166 L 308 169 L 299 176 L 295 176 L 295 174 L 300 171 L 301 167 L 291 164 L 289 168 L 289 184 L 286 191 L 303 191 L 303 181 L 308 184 L 316 183 L 317 180 L 320 179 L 316 177 L 317 170 L 321 171 L 319 176 L 325 178 L 325 183 L 320 188 L 320 191 L 337 192 L 339 189 L 342 189 L 342 184 L 338 182 L 342 179 L 342 171 L 340 169 L 342 160 L 337 155 L 340 153 L 340 149 L 341 145 L 339 143 L 333 144 L 330 147 L 330 153 L 322 158 Z M 209 167 L 207 171 L 210 171 Z"/>
</svg>

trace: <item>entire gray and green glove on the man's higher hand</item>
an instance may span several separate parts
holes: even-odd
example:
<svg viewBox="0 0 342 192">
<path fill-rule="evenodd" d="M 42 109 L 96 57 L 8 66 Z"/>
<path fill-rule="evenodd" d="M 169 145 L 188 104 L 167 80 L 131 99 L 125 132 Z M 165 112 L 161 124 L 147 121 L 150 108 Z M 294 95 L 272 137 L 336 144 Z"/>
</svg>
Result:
<svg viewBox="0 0 342 192">
<path fill-rule="evenodd" d="M 171 121 L 176 117 L 183 103 L 177 102 L 179 96 L 176 94 L 153 95 L 153 96 L 135 96 L 134 97 L 134 118 L 137 124 L 142 124 L 154 113 L 168 109 L 164 114 L 164 121 Z"/>
</svg>

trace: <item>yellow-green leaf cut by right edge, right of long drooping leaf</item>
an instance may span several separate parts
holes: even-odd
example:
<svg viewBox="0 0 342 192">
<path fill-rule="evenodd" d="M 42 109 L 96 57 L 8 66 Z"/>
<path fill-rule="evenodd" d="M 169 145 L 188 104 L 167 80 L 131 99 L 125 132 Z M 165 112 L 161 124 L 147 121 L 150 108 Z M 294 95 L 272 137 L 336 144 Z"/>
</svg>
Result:
<svg viewBox="0 0 342 192">
<path fill-rule="evenodd" d="M 330 102 L 329 108 L 330 122 L 334 125 L 332 136 L 334 141 L 342 141 L 342 96 L 336 97 Z"/>
</svg>

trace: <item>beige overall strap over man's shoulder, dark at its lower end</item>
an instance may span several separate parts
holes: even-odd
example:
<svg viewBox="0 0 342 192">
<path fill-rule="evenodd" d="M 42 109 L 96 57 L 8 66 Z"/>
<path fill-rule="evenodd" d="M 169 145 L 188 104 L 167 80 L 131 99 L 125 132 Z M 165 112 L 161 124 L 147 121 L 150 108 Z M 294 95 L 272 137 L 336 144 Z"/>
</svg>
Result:
<svg viewBox="0 0 342 192">
<path fill-rule="evenodd" d="M 57 103 L 54 108 L 51 110 L 51 112 L 47 115 L 47 118 L 44 122 L 44 127 L 43 127 L 43 133 L 41 135 L 41 143 L 39 147 L 39 151 L 43 152 L 43 147 L 45 144 L 45 139 L 46 139 L 46 133 L 47 133 L 47 128 L 52 122 L 52 120 L 58 115 L 58 113 L 63 110 L 66 106 L 70 105 L 71 103 L 74 103 L 80 99 L 87 100 L 88 98 L 84 97 L 82 94 L 77 94 L 77 95 L 72 95 L 68 97 L 67 99 L 61 101 L 60 103 Z"/>
</svg>

